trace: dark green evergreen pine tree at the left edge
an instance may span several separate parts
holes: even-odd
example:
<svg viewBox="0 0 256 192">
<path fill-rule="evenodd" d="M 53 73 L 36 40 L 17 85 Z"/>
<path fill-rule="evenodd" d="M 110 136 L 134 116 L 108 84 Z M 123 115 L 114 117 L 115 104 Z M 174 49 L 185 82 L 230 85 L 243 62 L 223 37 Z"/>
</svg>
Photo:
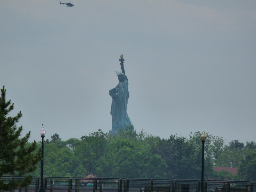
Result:
<svg viewBox="0 0 256 192">
<path fill-rule="evenodd" d="M 28 142 L 30 131 L 20 138 L 22 126 L 16 123 L 22 117 L 21 111 L 14 117 L 7 116 L 14 109 L 11 100 L 5 100 L 6 89 L 1 89 L 0 97 L 0 191 L 11 191 L 18 187 L 27 186 L 31 182 L 30 172 L 36 169 L 40 161 L 40 150 L 37 144 Z M 3 176 L 25 176 L 24 179 L 5 183 Z"/>
</svg>

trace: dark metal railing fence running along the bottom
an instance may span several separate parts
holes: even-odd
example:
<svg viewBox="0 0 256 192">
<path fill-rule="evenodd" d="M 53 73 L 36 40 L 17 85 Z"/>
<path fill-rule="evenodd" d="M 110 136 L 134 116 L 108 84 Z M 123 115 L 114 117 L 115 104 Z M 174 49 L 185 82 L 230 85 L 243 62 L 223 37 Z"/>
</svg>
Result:
<svg viewBox="0 0 256 192">
<path fill-rule="evenodd" d="M 4 182 L 24 177 L 1 177 Z M 39 177 L 13 192 L 38 192 Z M 199 180 L 44 177 L 45 192 L 199 192 Z M 205 180 L 205 192 L 256 192 L 256 182 Z"/>
</svg>

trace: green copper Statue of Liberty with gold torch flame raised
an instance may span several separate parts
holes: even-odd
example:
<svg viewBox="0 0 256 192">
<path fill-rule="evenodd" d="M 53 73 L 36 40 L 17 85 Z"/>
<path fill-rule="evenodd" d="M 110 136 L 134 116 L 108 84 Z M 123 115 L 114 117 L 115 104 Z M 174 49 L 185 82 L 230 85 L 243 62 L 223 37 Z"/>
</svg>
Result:
<svg viewBox="0 0 256 192">
<path fill-rule="evenodd" d="M 123 55 L 120 55 L 119 59 L 122 72 L 116 71 L 119 83 L 118 85 L 109 91 L 109 95 L 112 97 L 111 111 L 112 115 L 112 130 L 109 133 L 118 133 L 118 130 L 122 127 L 129 127 L 133 124 L 127 115 L 127 103 L 129 99 L 128 91 L 128 79 L 124 71 L 124 59 Z M 134 130 L 134 128 L 132 128 Z"/>
</svg>

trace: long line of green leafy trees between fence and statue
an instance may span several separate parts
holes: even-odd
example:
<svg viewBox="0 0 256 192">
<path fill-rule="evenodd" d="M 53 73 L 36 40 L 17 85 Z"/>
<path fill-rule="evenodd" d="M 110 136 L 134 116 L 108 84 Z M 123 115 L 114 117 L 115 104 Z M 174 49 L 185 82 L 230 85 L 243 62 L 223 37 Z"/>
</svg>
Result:
<svg viewBox="0 0 256 192">
<path fill-rule="evenodd" d="M 44 175 L 56 177 L 200 179 L 201 132 L 189 138 L 153 136 L 132 127 L 110 137 L 102 130 L 62 141 L 55 133 L 44 142 Z M 222 137 L 206 133 L 205 179 L 256 180 L 256 143 L 234 140 L 225 144 Z M 38 142 L 38 147 L 41 142 Z M 238 174 L 217 172 L 213 167 L 237 167 Z M 33 176 L 40 175 L 40 166 Z"/>
</svg>

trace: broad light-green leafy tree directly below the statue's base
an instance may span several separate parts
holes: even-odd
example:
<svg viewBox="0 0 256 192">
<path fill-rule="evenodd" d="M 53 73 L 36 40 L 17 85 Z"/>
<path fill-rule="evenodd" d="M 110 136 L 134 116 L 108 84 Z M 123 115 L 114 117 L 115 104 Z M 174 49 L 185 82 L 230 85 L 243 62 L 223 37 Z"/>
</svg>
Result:
<svg viewBox="0 0 256 192">
<path fill-rule="evenodd" d="M 128 131 L 113 137 L 96 173 L 114 178 L 166 178 L 166 168 L 160 155 L 152 154 L 136 132 Z"/>
</svg>

